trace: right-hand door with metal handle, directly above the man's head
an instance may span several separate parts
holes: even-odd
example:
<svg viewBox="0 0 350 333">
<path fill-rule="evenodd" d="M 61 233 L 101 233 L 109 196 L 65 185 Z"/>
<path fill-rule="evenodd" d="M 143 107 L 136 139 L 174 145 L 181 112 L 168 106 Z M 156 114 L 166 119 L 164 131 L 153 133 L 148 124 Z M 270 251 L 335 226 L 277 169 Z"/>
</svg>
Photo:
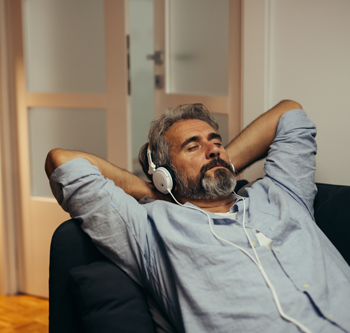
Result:
<svg viewBox="0 0 350 333">
<path fill-rule="evenodd" d="M 240 0 L 154 0 L 156 116 L 203 103 L 226 143 L 240 132 L 240 18 Z"/>
</svg>

